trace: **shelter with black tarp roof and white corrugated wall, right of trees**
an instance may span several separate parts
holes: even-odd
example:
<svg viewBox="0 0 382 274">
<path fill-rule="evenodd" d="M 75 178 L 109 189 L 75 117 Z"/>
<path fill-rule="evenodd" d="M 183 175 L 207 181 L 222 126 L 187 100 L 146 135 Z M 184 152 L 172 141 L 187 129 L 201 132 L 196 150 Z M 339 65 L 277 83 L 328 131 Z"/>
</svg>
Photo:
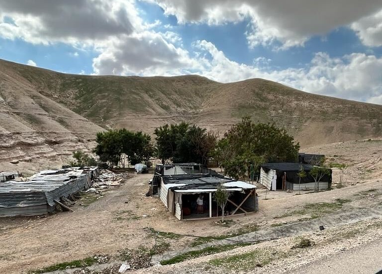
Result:
<svg viewBox="0 0 382 274">
<path fill-rule="evenodd" d="M 306 176 L 299 178 L 297 173 L 300 166 Z M 265 163 L 261 166 L 259 183 L 269 190 L 314 190 L 315 181 L 310 175 L 313 165 L 299 163 Z M 318 189 L 330 189 L 332 184 L 332 170 L 330 175 L 324 175 L 318 183 Z"/>
</svg>

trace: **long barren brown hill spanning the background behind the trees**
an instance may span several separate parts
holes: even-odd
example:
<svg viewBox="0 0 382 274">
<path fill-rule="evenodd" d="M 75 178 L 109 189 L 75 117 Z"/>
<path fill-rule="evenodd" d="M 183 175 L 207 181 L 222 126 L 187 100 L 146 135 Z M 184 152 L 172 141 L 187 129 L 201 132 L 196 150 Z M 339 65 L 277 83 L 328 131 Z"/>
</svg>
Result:
<svg viewBox="0 0 382 274">
<path fill-rule="evenodd" d="M 250 115 L 255 121 L 285 127 L 305 147 L 382 135 L 381 105 L 314 95 L 263 79 L 222 84 L 194 75 L 70 75 L 2 60 L 0 71 L 5 114 L 17 112 L 18 119 L 38 124 L 37 131 L 92 135 L 100 130 L 66 107 L 103 128 L 126 127 L 149 134 L 160 125 L 180 121 L 224 133 L 242 116 Z M 24 101 L 30 104 L 24 106 Z M 39 113 L 38 123 L 28 116 L 29 111 L 20 113 L 22 109 Z M 68 119 L 62 122 L 55 117 Z M 74 117 L 91 130 L 83 130 Z"/>
</svg>

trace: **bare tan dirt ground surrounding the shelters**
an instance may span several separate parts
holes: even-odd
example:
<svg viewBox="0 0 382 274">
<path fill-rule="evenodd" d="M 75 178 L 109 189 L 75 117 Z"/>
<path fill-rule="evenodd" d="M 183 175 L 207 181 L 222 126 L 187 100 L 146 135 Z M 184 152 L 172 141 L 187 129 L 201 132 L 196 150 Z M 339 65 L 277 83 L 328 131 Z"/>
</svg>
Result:
<svg viewBox="0 0 382 274">
<path fill-rule="evenodd" d="M 326 148 L 333 157 L 338 153 L 342 160 L 348 159 L 351 163 L 354 177 L 346 179 L 346 187 L 302 195 L 267 191 L 266 200 L 265 190 L 259 187 L 260 212 L 232 218 L 231 227 L 216 225 L 215 220 L 177 220 L 167 212 L 159 198 L 144 195 L 148 190 L 147 183 L 152 178 L 151 174 L 132 175 L 120 187 L 107 191 L 89 206 L 76 205 L 75 212 L 62 212 L 45 218 L 1 218 L 0 273 L 27 273 L 28 270 L 96 254 L 115 255 L 118 250 L 139 246 L 151 248 L 154 239 L 147 230 L 148 227 L 157 231 L 198 236 L 222 235 L 247 224 L 267 227 L 280 222 L 296 221 L 304 216 L 286 214 L 283 218 L 275 217 L 306 203 L 334 202 L 335 199 L 342 198 L 352 200 L 350 207 L 370 207 L 372 205 L 367 203 L 368 196 L 361 199 L 363 196 L 360 193 L 370 189 L 382 191 L 381 143 L 359 141 L 349 144 L 353 146 L 351 149 L 362 149 L 363 144 L 376 145 L 359 154 L 351 151 L 345 153 L 344 149 L 341 150 L 342 153 L 336 152 L 338 145 Z M 307 149 L 305 152 L 313 152 L 315 149 L 323 151 L 325 147 Z M 377 153 L 373 154 L 373 151 Z M 370 171 L 357 173 L 360 166 L 362 170 Z M 170 250 L 182 250 L 189 246 L 191 240 L 192 238 L 187 237 L 169 240 Z M 200 258 L 197 260 L 202 262 Z M 165 269 L 172 270 L 171 267 Z"/>
</svg>

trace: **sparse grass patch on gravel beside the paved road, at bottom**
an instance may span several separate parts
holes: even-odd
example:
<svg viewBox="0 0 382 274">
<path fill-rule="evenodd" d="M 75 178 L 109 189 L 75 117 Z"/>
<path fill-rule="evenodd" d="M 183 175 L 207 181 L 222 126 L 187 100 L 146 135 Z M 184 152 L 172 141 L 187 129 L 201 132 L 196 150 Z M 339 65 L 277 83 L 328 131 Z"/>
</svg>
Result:
<svg viewBox="0 0 382 274">
<path fill-rule="evenodd" d="M 263 267 L 272 260 L 284 258 L 285 253 L 276 252 L 272 249 L 255 249 L 239 255 L 219 258 L 209 261 L 215 267 L 223 267 L 231 270 L 249 271 L 256 267 Z"/>
</svg>

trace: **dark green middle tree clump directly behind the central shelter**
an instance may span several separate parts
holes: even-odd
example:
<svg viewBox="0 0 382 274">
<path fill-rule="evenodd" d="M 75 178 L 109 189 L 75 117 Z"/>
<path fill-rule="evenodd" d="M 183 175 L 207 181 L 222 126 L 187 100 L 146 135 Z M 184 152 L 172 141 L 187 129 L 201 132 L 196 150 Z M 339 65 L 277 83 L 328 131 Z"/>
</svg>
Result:
<svg viewBox="0 0 382 274">
<path fill-rule="evenodd" d="M 158 157 L 165 163 L 196 162 L 206 164 L 215 144 L 216 136 L 187 123 L 165 125 L 155 129 Z"/>
</svg>

